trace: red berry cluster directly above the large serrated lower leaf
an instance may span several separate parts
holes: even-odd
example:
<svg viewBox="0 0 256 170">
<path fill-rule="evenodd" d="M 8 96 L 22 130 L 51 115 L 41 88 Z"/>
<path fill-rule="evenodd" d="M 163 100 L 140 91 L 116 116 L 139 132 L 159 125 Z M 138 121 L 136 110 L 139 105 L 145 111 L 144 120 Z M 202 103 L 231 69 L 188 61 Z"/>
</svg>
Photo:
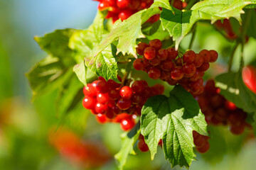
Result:
<svg viewBox="0 0 256 170">
<path fill-rule="evenodd" d="M 181 84 L 193 95 L 201 94 L 204 72 L 210 67 L 209 62 L 217 60 L 218 53 L 215 50 L 201 50 L 196 54 L 188 50 L 181 58 L 173 47 L 161 47 L 162 42 L 158 39 L 149 41 L 149 45 L 140 42 L 136 50 L 143 57 L 134 60 L 134 69 L 147 72 L 151 79 L 161 79 L 170 85 Z"/>
</svg>

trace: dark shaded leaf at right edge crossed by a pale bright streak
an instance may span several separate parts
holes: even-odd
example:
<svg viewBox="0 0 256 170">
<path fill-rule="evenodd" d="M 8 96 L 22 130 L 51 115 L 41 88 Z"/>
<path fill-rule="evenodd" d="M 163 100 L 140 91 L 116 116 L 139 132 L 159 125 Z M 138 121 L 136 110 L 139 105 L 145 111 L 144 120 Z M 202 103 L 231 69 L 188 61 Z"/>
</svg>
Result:
<svg viewBox="0 0 256 170">
<path fill-rule="evenodd" d="M 245 86 L 242 72 L 228 72 L 215 78 L 215 85 L 219 87 L 220 94 L 228 101 L 235 103 L 246 113 L 256 112 L 256 94 Z"/>
</svg>

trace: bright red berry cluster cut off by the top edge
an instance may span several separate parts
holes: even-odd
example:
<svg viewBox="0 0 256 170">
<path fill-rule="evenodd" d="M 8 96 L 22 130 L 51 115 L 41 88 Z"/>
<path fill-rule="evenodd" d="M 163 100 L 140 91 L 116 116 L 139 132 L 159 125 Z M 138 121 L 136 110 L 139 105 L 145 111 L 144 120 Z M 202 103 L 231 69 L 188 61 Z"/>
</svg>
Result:
<svg viewBox="0 0 256 170">
<path fill-rule="evenodd" d="M 144 8 L 149 8 L 154 0 L 96 0 L 100 1 L 98 9 L 103 11 L 108 8 L 106 18 L 112 18 L 113 23 L 119 18 L 124 21 L 132 14 Z M 157 17 L 156 17 L 157 18 Z M 159 16 L 157 20 L 159 19 Z M 156 20 L 156 21 L 157 21 Z"/>
</svg>

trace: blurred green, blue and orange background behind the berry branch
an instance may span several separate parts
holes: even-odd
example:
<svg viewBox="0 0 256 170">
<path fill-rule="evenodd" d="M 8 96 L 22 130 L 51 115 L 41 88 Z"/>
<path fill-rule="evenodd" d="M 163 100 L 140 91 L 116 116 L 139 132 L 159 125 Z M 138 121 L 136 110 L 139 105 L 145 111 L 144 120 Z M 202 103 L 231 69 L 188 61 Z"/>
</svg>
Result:
<svg viewBox="0 0 256 170">
<path fill-rule="evenodd" d="M 0 169 L 117 169 L 113 155 L 121 146 L 119 125 L 99 125 L 82 108 L 60 124 L 55 114 L 57 92 L 32 103 L 25 77 L 46 56 L 33 40 L 35 35 L 63 28 L 85 29 L 96 12 L 97 1 L 91 0 L 0 0 Z M 183 47 L 188 47 L 189 38 L 183 40 Z M 213 26 L 198 24 L 193 50 L 220 52 L 218 64 L 207 77 L 227 69 L 232 46 L 233 42 L 225 40 Z M 255 47 L 256 40 L 250 38 L 245 46 L 245 64 L 255 61 Z M 236 54 L 233 69 L 238 66 Z M 252 132 L 235 136 L 225 127 L 210 127 L 210 132 L 210 152 L 197 154 L 198 162 L 193 162 L 191 169 L 256 169 Z M 150 161 L 149 153 L 135 151 L 138 155 L 129 157 L 125 169 L 171 169 L 161 149 L 154 161 Z"/>
</svg>

